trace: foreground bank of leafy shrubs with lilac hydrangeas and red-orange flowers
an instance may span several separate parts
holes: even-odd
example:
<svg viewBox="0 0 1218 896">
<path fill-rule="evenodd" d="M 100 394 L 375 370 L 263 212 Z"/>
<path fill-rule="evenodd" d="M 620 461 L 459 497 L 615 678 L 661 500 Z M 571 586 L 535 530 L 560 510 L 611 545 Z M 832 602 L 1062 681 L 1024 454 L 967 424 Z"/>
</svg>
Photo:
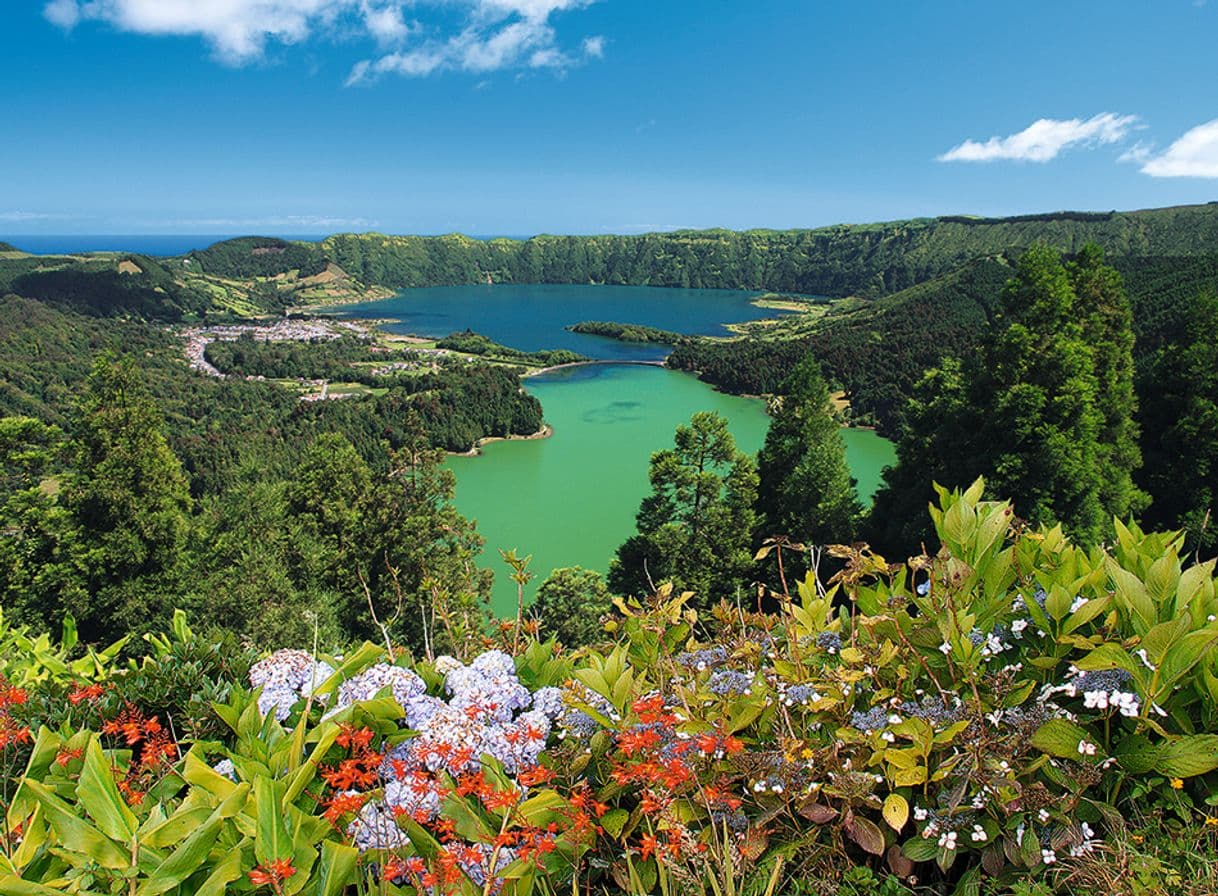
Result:
<svg viewBox="0 0 1218 896">
<path fill-rule="evenodd" d="M 661 588 L 574 656 L 279 651 L 214 728 L 128 699 L 139 666 L 48 684 L 52 726 L 5 682 L 0 891 L 734 896 L 853 864 L 971 894 L 1051 884 L 1135 807 L 1211 824 L 1213 564 L 940 498 L 938 554 L 834 549 L 777 612 Z"/>
</svg>

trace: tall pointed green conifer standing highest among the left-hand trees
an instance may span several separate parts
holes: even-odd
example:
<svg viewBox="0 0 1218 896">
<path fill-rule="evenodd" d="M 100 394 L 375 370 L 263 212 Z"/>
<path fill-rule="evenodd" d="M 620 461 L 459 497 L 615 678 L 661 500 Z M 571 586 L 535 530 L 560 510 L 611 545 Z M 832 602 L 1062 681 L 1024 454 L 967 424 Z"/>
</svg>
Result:
<svg viewBox="0 0 1218 896">
<path fill-rule="evenodd" d="M 130 359 L 94 365 L 76 421 L 63 500 L 88 598 L 69 606 L 82 637 L 141 631 L 172 610 L 191 498 L 156 404 Z"/>
</svg>

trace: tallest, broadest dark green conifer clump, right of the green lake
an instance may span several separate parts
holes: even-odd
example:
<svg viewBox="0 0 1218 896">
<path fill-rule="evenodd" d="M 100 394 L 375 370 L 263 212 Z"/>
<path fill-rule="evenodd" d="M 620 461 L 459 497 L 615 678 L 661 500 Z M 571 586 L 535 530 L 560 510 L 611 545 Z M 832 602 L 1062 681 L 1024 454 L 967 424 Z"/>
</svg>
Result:
<svg viewBox="0 0 1218 896">
<path fill-rule="evenodd" d="M 909 537 L 921 527 L 909 514 L 924 514 L 932 477 L 963 487 L 983 475 L 1021 516 L 1061 521 L 1083 543 L 1099 541 L 1111 515 L 1136 509 L 1130 476 L 1138 453 L 1128 443 L 1135 429 L 1125 391 L 1132 336 L 1123 308 L 1119 279 L 1094 250 L 1067 270 L 1055 250 L 1029 248 L 979 351 L 959 375 L 945 364 L 918 390 L 898 466 L 872 513 L 875 532 L 898 537 L 883 547 L 916 548 Z M 1099 373 L 1116 391 L 1107 408 Z M 1113 442 L 1101 446 L 1108 437 Z"/>
</svg>

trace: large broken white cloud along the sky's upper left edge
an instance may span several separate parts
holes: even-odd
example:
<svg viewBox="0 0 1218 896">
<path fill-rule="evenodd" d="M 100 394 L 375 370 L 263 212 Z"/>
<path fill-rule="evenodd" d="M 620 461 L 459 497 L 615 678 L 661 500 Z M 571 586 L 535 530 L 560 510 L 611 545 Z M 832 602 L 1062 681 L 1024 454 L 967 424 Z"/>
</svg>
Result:
<svg viewBox="0 0 1218 896">
<path fill-rule="evenodd" d="M 216 56 L 240 66 L 263 57 L 267 44 L 298 44 L 336 33 L 339 24 L 392 49 L 357 62 L 348 84 L 380 74 L 430 74 L 441 68 L 493 72 L 503 68 L 565 68 L 575 65 L 561 50 L 551 23 L 554 13 L 582 9 L 594 0 L 49 0 L 43 15 L 65 29 L 84 22 L 150 37 L 199 37 Z M 434 7 L 451 19 L 457 9 L 465 21 L 454 34 L 408 21 L 404 10 L 421 15 Z M 423 37 L 429 33 L 430 37 Z M 413 46 L 408 41 L 417 40 Z M 604 54 L 603 38 L 587 38 L 585 58 Z"/>
</svg>

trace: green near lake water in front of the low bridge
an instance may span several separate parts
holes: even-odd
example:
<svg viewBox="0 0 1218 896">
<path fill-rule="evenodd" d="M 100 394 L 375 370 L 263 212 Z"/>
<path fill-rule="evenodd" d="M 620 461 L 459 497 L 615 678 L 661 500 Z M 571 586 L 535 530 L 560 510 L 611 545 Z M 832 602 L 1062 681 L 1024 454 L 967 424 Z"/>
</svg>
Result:
<svg viewBox="0 0 1218 896">
<path fill-rule="evenodd" d="M 457 474 L 458 509 L 486 538 L 482 565 L 495 570 L 493 603 L 505 614 L 516 592 L 498 550 L 532 554 L 530 597 L 558 566 L 604 572 L 633 534 L 652 452 L 671 446 L 680 424 L 699 410 L 719 411 L 741 449 L 752 453 L 770 421 L 759 399 L 721 394 L 661 368 L 570 368 L 526 383 L 546 409 L 551 438 L 492 442 L 481 457 L 447 461 Z M 860 494 L 870 498 L 894 459 L 892 444 L 868 430 L 843 436 Z"/>
</svg>

